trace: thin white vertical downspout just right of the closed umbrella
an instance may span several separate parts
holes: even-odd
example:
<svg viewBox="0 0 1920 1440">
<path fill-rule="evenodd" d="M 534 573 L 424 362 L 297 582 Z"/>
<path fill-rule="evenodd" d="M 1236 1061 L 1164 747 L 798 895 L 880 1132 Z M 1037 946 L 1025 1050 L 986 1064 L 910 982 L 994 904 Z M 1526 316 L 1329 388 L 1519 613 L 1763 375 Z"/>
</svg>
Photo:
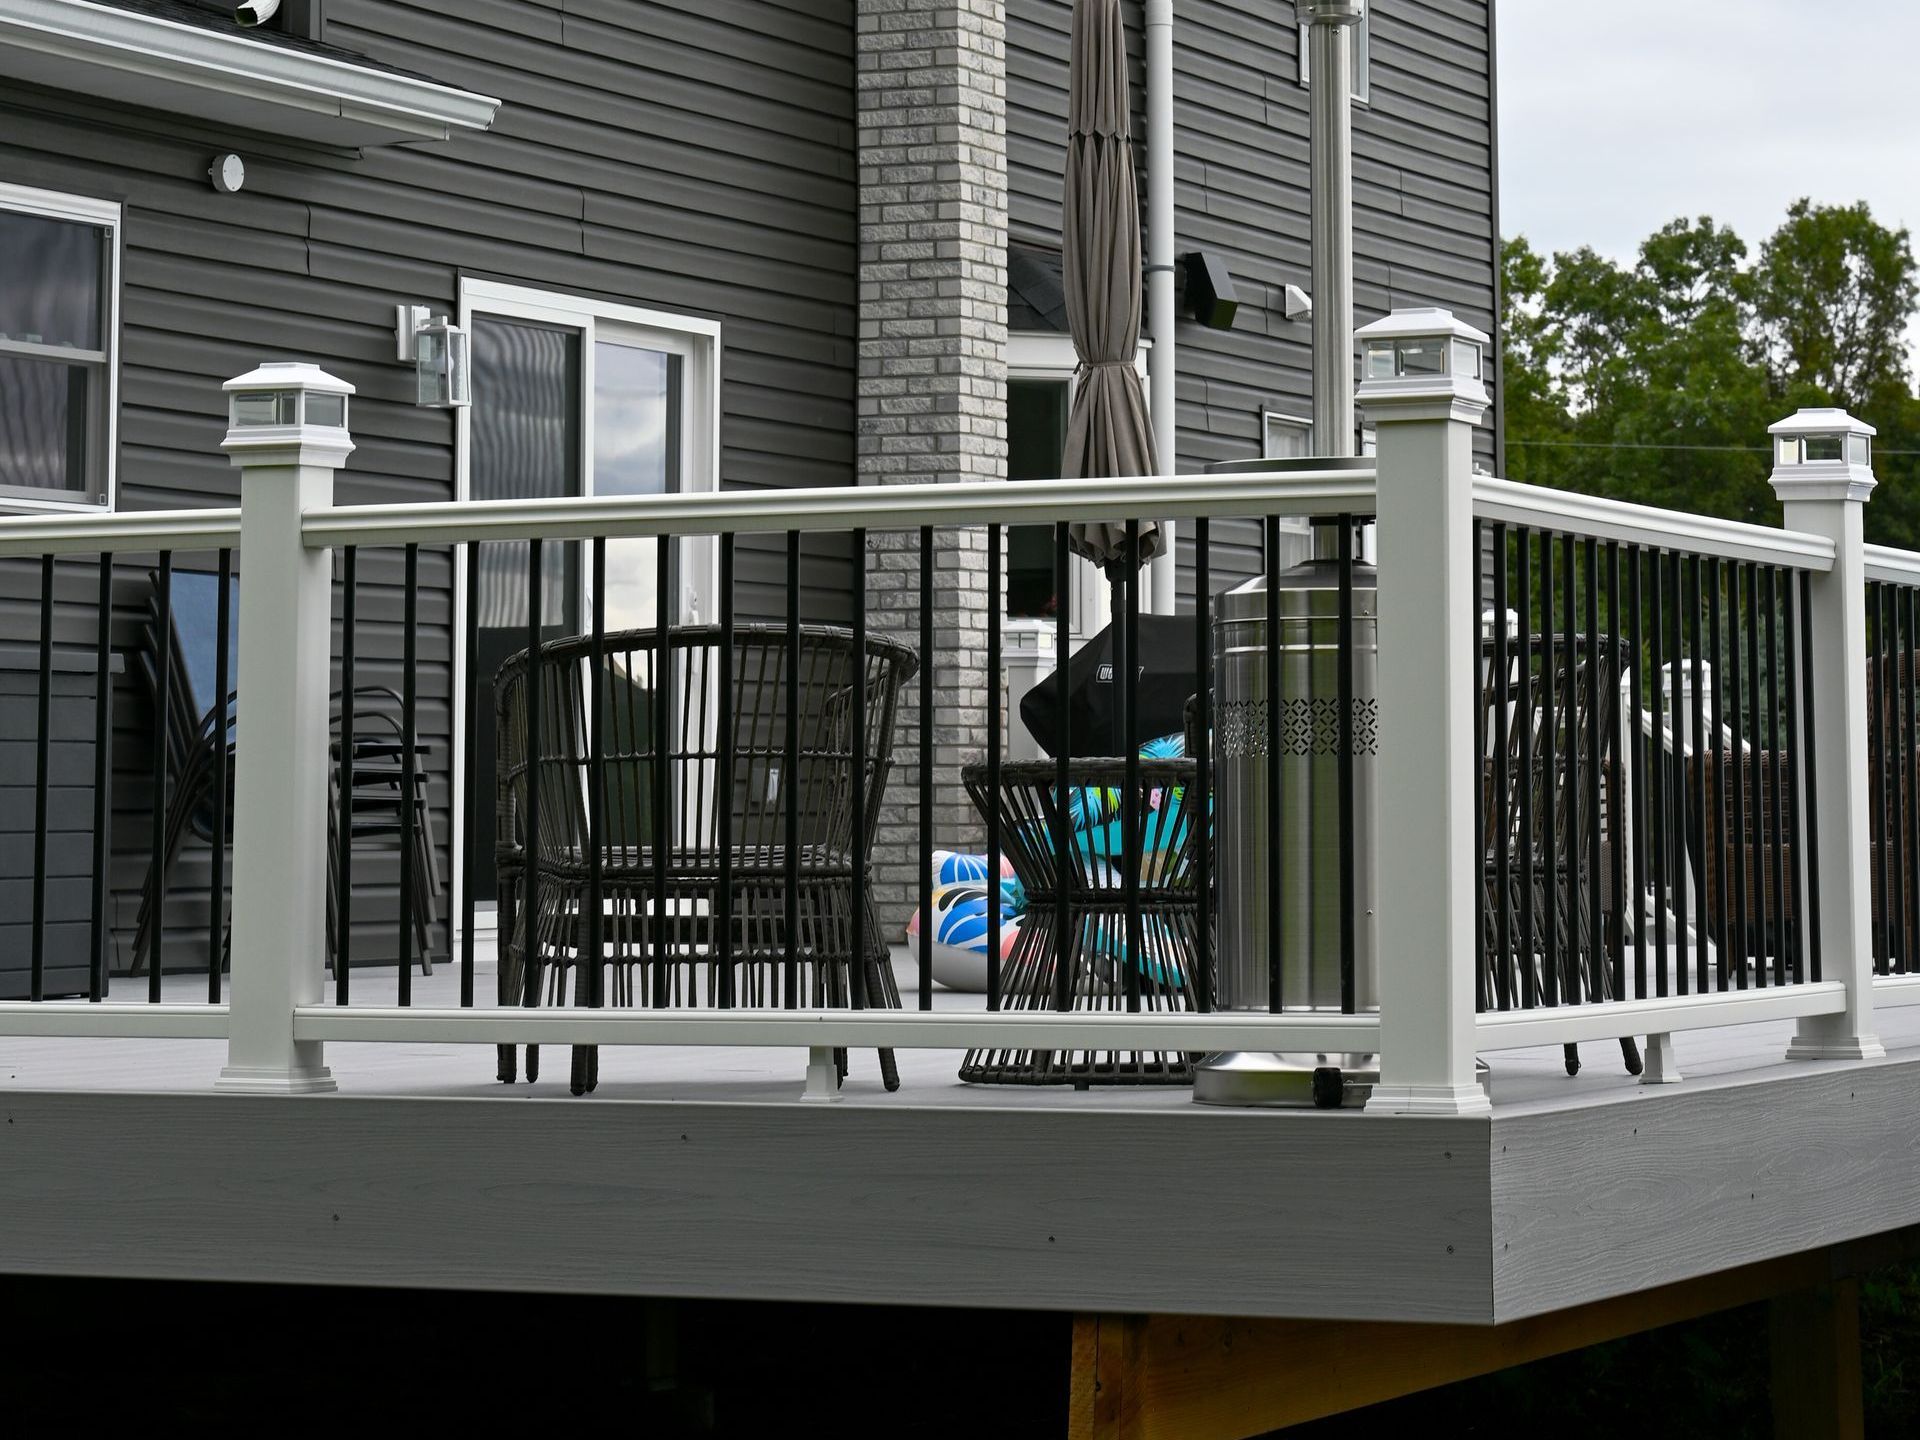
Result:
<svg viewBox="0 0 1920 1440">
<path fill-rule="evenodd" d="M 1177 468 L 1173 344 L 1173 0 L 1146 0 L 1146 355 L 1148 417 L 1154 422 L 1154 468 Z M 1173 520 L 1160 522 L 1165 549 L 1148 566 L 1148 605 L 1173 614 L 1177 576 Z"/>
</svg>

